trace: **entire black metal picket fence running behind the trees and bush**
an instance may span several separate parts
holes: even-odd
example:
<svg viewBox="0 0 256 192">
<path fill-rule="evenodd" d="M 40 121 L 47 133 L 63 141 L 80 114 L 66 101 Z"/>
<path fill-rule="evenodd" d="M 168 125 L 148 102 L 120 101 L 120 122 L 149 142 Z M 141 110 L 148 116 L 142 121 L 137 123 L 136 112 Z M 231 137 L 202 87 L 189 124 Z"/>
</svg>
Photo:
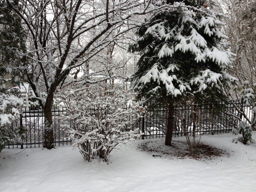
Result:
<svg viewBox="0 0 256 192">
<path fill-rule="evenodd" d="M 238 119 L 234 116 L 238 112 L 232 103 L 218 104 L 226 108 L 226 113 L 217 113 L 211 110 L 209 105 L 200 107 L 187 107 L 179 104 L 174 111 L 173 136 L 182 136 L 184 131 L 196 134 L 218 134 L 228 133 L 234 125 L 238 125 Z M 243 104 L 247 116 L 251 116 L 251 108 Z M 71 138 L 61 126 L 61 118 L 67 114 L 65 108 L 52 110 L 52 120 L 54 127 L 54 143 L 56 145 L 72 144 Z M 140 133 L 145 133 L 144 138 L 163 137 L 166 133 L 168 110 L 166 108 L 151 109 L 141 114 L 141 118 L 133 120 L 134 124 L 127 126 L 127 129 L 139 129 Z M 192 117 L 193 116 L 193 117 Z M 196 118 L 195 118 L 196 117 Z M 70 122 L 70 125 L 72 122 Z M 19 122 L 14 122 L 9 128 L 23 125 L 24 134 L 17 135 L 23 137 L 24 147 L 42 147 L 44 143 L 44 113 L 42 110 L 24 110 Z M 184 127 L 185 126 L 185 127 Z M 126 130 L 128 131 L 128 130 Z M 15 139 L 10 141 L 6 147 L 14 148 L 19 146 Z"/>
</svg>

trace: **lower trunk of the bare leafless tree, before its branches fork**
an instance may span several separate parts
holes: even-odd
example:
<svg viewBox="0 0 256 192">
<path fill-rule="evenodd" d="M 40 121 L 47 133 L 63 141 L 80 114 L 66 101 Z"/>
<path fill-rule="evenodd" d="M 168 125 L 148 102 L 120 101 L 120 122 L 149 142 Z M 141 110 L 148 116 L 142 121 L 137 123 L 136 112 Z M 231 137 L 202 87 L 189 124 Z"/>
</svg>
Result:
<svg viewBox="0 0 256 192">
<path fill-rule="evenodd" d="M 45 115 L 45 132 L 44 132 L 44 147 L 47 149 L 54 148 L 54 134 L 52 126 L 51 107 L 44 108 Z"/>
</svg>

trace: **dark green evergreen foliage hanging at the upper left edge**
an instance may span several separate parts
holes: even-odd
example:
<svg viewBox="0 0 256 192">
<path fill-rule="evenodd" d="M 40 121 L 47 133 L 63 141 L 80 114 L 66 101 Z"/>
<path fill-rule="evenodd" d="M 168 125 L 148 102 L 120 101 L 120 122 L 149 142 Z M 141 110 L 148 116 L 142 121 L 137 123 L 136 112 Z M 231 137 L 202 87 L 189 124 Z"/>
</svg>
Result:
<svg viewBox="0 0 256 192">
<path fill-rule="evenodd" d="M 14 3 L 18 4 L 15 0 Z M 20 57 L 15 52 L 26 52 L 26 30 L 21 18 L 14 13 L 5 0 L 0 1 L 0 83 L 7 73 L 19 73 L 13 67 L 28 62 L 27 57 Z"/>
</svg>

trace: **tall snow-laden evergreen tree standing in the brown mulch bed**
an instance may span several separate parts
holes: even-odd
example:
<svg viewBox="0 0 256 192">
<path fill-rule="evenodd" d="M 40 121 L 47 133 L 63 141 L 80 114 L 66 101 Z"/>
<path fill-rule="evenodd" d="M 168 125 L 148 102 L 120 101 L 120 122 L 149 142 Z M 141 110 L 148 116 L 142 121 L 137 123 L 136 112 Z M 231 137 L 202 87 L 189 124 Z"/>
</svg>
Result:
<svg viewBox="0 0 256 192">
<path fill-rule="evenodd" d="M 141 55 L 131 87 L 146 101 L 166 102 L 169 117 L 166 145 L 171 145 L 174 101 L 189 94 L 198 102 L 227 99 L 223 87 L 234 78 L 228 38 L 219 30 L 222 13 L 211 9 L 212 1 L 158 1 L 167 8 L 146 18 L 138 28 L 131 52 Z"/>
</svg>

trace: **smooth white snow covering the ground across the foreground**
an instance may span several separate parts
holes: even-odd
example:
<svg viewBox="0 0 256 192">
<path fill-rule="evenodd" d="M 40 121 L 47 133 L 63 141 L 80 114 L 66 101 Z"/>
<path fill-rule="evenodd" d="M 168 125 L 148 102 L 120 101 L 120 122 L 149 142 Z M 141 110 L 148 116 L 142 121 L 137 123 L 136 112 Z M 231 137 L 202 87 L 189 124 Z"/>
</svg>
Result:
<svg viewBox="0 0 256 192">
<path fill-rule="evenodd" d="M 0 153 L 0 191 L 255 191 L 256 144 L 232 143 L 237 135 L 201 137 L 201 142 L 226 150 L 207 160 L 153 157 L 137 145 L 111 153 L 109 164 L 85 162 L 70 145 L 53 150 L 4 149 Z M 256 139 L 256 133 L 252 138 Z M 184 140 L 176 137 L 174 141 Z M 155 145 L 162 138 L 151 139 Z M 159 146 L 161 147 L 161 146 Z M 21 152 L 21 153 L 19 153 Z"/>
</svg>

